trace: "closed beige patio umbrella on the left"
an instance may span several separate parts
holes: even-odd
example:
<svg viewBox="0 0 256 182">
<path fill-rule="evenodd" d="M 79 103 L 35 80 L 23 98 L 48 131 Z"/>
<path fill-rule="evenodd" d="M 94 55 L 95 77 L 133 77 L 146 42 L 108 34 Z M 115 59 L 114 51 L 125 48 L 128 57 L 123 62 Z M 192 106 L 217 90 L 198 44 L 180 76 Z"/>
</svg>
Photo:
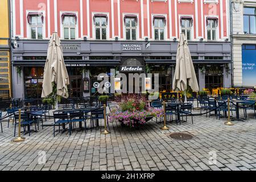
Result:
<svg viewBox="0 0 256 182">
<path fill-rule="evenodd" d="M 49 41 L 47 60 L 44 66 L 42 97 L 47 97 L 52 93 L 52 82 L 56 84 L 57 96 L 68 98 L 69 77 L 57 32 L 53 32 Z"/>
</svg>

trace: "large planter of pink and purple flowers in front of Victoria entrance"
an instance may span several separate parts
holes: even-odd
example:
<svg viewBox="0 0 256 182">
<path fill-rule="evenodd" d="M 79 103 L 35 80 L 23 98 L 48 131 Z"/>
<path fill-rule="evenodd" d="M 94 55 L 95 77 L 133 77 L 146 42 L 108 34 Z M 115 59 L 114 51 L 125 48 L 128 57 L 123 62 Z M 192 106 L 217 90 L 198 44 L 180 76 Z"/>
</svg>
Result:
<svg viewBox="0 0 256 182">
<path fill-rule="evenodd" d="M 119 122 L 121 126 L 139 127 L 153 117 L 162 117 L 163 110 L 149 107 L 146 98 L 140 95 L 124 96 L 118 102 L 119 109 L 109 113 L 109 122 Z"/>
</svg>

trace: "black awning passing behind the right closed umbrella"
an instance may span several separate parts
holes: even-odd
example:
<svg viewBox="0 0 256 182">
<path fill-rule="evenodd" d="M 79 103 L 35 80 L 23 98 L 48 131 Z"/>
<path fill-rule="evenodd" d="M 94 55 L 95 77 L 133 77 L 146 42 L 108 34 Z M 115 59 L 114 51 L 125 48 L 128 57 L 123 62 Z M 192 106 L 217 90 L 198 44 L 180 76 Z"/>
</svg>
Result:
<svg viewBox="0 0 256 182">
<path fill-rule="evenodd" d="M 176 64 L 176 60 L 171 59 L 148 59 L 145 60 L 146 64 Z M 232 63 L 232 60 L 193 60 L 193 63 L 201 63 L 201 64 L 226 64 Z"/>
</svg>

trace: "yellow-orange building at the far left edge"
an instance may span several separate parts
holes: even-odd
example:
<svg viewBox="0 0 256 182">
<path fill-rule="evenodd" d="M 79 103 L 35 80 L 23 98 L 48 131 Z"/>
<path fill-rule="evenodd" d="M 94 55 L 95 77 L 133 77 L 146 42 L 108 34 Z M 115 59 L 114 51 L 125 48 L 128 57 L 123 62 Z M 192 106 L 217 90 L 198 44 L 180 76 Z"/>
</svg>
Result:
<svg viewBox="0 0 256 182">
<path fill-rule="evenodd" d="M 0 98 L 11 97 L 10 4 L 0 1 Z"/>
</svg>

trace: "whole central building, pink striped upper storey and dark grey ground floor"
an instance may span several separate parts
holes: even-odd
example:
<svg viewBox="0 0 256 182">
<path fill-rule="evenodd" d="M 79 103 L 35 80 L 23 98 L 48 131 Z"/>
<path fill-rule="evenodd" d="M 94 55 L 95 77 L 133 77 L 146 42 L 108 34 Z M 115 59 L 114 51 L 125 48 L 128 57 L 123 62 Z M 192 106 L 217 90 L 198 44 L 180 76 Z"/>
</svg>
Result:
<svg viewBox="0 0 256 182">
<path fill-rule="evenodd" d="M 159 90 L 170 91 L 181 32 L 200 89 L 230 87 L 229 7 L 225 0 L 13 0 L 14 96 L 40 98 L 53 31 L 61 38 L 71 97 L 96 94 L 97 75 L 123 67 L 159 73 Z"/>
</svg>

